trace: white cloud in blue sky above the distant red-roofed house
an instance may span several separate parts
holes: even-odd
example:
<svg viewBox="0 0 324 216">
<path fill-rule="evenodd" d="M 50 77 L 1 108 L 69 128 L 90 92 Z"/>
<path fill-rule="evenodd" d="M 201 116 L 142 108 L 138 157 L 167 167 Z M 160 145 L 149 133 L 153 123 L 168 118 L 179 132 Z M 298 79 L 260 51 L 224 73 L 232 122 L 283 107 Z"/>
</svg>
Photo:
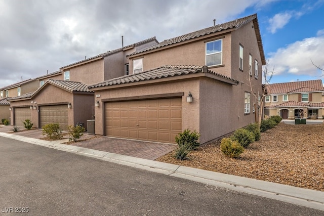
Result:
<svg viewBox="0 0 324 216">
<path fill-rule="evenodd" d="M 274 65 L 275 75 L 294 74 L 318 77 L 322 74 L 311 61 L 324 68 L 322 53 L 324 50 L 324 35 L 305 38 L 296 41 L 285 48 L 269 54 L 269 65 Z"/>
</svg>

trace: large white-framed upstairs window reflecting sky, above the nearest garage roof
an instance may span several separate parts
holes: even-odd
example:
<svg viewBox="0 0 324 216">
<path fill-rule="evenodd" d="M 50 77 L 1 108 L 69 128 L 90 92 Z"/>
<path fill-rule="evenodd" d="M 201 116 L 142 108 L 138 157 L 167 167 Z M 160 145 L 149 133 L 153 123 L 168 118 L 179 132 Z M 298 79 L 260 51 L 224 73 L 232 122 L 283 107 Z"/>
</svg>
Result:
<svg viewBox="0 0 324 216">
<path fill-rule="evenodd" d="M 222 39 L 214 40 L 206 43 L 206 65 L 222 64 Z"/>
</svg>

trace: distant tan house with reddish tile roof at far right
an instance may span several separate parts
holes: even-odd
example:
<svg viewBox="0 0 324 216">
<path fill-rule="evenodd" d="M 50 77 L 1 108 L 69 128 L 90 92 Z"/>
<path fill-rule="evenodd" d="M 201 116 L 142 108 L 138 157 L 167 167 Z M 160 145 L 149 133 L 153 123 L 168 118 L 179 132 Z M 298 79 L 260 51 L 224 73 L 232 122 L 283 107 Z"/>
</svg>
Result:
<svg viewBox="0 0 324 216">
<path fill-rule="evenodd" d="M 264 114 L 284 119 L 322 118 L 324 88 L 321 79 L 268 84 Z"/>
</svg>

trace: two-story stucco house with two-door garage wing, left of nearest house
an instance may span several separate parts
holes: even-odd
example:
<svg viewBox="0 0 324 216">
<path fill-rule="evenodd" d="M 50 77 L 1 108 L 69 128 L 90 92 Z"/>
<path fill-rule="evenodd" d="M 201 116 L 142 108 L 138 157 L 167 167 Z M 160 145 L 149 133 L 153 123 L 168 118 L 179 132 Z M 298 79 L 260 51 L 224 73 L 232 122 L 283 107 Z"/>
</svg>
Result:
<svg viewBox="0 0 324 216">
<path fill-rule="evenodd" d="M 37 77 L 39 89 L 10 99 L 12 124 L 21 126 L 22 120 L 28 118 L 37 128 L 56 122 L 66 130 L 77 122 L 86 123 L 95 114 L 94 93 L 88 84 L 127 74 L 126 55 L 155 44 L 157 40 L 152 37 Z"/>
</svg>

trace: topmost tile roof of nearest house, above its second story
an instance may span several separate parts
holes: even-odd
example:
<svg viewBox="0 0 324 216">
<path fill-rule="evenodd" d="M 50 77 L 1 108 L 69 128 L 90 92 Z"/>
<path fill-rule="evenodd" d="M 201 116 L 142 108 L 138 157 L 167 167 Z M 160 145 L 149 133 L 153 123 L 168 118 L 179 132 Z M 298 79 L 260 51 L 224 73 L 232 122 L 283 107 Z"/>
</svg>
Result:
<svg viewBox="0 0 324 216">
<path fill-rule="evenodd" d="M 220 31 L 223 31 L 223 30 L 232 29 L 232 28 L 238 28 L 238 27 L 240 27 L 242 25 L 247 24 L 248 22 L 250 22 L 252 20 L 255 20 L 256 18 L 257 18 L 257 14 L 253 14 L 253 15 L 250 15 L 250 16 L 247 16 L 247 17 L 239 18 L 239 19 L 232 20 L 232 21 L 229 21 L 229 22 L 226 22 L 226 23 L 218 24 L 218 25 L 215 25 L 215 26 L 212 26 L 212 27 L 208 27 L 208 28 L 204 28 L 204 29 L 201 29 L 201 30 L 198 30 L 198 31 L 187 33 L 187 34 L 184 34 L 184 35 L 181 35 L 181 36 L 178 36 L 178 37 L 174 37 L 174 38 L 171 38 L 171 39 L 164 40 L 164 41 L 160 42 L 157 45 L 153 45 L 153 46 L 150 46 L 148 48 L 144 48 L 142 50 L 131 53 L 131 54 L 127 55 L 127 56 L 132 56 L 132 55 L 136 55 L 136 54 L 139 54 L 139 53 L 144 53 L 146 51 L 155 50 L 155 49 L 158 49 L 158 48 L 161 48 L 161 47 L 166 47 L 166 46 L 169 46 L 169 45 L 177 44 L 177 43 L 182 42 L 182 41 L 186 41 L 186 40 L 190 40 L 190 39 L 197 38 L 197 37 L 200 37 L 200 36 L 220 32 Z M 260 49 L 260 55 L 261 55 L 261 58 L 262 58 L 262 64 L 265 65 L 265 57 L 264 57 L 264 51 L 263 51 L 263 46 L 262 46 L 262 41 L 261 41 L 261 34 L 260 34 L 259 24 L 256 21 L 256 22 L 254 22 L 254 25 L 256 25 L 255 26 L 255 31 L 257 32 L 257 37 L 258 37 L 257 39 L 258 39 L 258 44 L 259 44 L 259 49 Z"/>
</svg>

